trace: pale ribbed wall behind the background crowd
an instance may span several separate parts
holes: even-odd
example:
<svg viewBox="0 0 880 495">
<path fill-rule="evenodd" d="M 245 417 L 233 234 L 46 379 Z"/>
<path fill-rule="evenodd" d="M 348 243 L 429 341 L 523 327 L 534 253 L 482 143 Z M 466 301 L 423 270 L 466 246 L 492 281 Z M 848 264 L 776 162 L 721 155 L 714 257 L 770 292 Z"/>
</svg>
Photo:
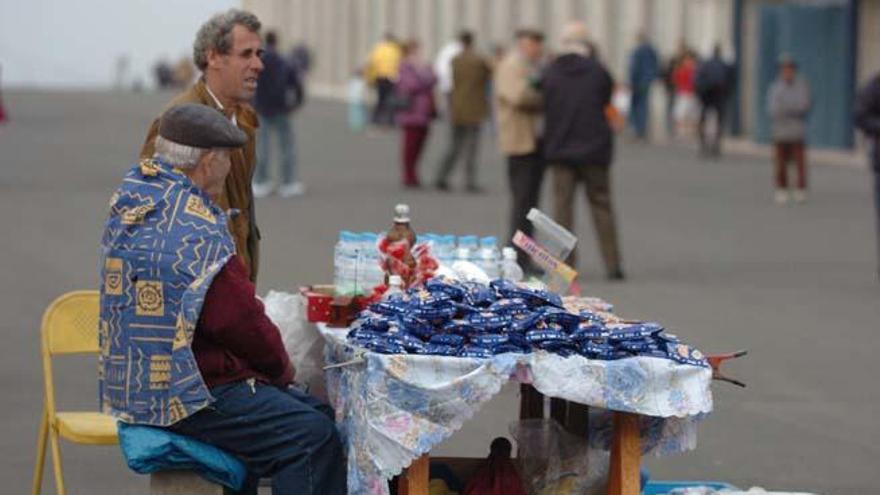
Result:
<svg viewBox="0 0 880 495">
<path fill-rule="evenodd" d="M 434 54 L 459 29 L 474 30 L 488 51 L 507 44 L 518 27 L 545 31 L 556 46 L 564 23 L 586 21 L 615 77 L 626 76 L 636 34 L 645 30 L 661 54 L 680 39 L 701 54 L 721 42 L 732 55 L 733 0 L 243 0 L 288 47 L 303 40 L 315 52 L 310 83 L 340 90 L 382 33 L 418 38 L 425 55 Z"/>
</svg>

